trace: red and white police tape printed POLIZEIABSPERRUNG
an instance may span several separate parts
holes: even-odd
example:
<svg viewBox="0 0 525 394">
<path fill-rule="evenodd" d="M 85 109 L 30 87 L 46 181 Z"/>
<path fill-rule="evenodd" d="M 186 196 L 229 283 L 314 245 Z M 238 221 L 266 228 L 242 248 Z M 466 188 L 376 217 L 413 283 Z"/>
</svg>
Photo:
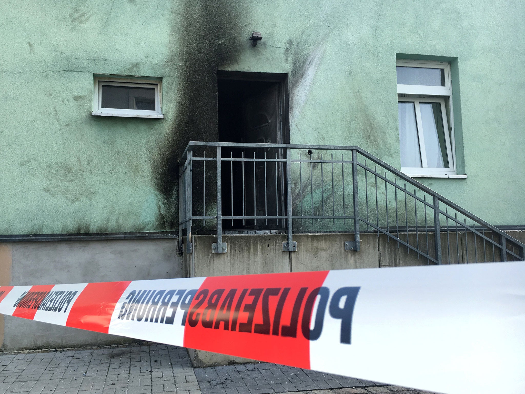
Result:
<svg viewBox="0 0 525 394">
<path fill-rule="evenodd" d="M 445 393 L 525 392 L 525 265 L 2 286 L 0 313 Z"/>
</svg>

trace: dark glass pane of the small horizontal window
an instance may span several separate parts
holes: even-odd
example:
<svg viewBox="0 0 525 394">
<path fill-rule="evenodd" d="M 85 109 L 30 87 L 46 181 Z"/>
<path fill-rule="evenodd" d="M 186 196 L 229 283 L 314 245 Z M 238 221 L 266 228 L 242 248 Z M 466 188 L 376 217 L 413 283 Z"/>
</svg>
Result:
<svg viewBox="0 0 525 394">
<path fill-rule="evenodd" d="M 102 108 L 155 110 L 155 88 L 102 85 Z"/>
</svg>

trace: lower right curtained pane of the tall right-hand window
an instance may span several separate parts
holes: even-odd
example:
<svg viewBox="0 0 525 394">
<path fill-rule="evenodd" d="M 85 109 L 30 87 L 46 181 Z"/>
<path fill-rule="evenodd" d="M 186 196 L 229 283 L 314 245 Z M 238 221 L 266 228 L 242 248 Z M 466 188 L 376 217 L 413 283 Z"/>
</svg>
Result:
<svg viewBox="0 0 525 394">
<path fill-rule="evenodd" d="M 421 102 L 419 109 L 421 109 L 427 167 L 448 168 L 441 104 L 439 102 Z"/>
</svg>

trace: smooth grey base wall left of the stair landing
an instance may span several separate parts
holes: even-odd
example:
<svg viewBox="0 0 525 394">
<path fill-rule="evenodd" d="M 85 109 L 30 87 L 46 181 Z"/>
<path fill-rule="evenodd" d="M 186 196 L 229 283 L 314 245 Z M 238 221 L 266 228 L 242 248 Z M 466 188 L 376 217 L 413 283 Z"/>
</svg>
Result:
<svg viewBox="0 0 525 394">
<path fill-rule="evenodd" d="M 182 277 L 182 258 L 177 256 L 177 240 L 174 239 L 0 244 L 0 285 L 178 277 Z M 131 341 L 133 339 L 0 315 L 0 345 L 5 350 L 99 346 Z"/>
</svg>

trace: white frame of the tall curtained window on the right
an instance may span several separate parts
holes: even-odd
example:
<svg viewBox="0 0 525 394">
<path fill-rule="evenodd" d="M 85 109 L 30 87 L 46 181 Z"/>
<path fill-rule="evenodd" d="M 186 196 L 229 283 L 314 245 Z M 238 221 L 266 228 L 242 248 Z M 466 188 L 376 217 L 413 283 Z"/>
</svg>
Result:
<svg viewBox="0 0 525 394">
<path fill-rule="evenodd" d="M 421 154 L 421 164 L 423 167 L 402 167 L 401 171 L 409 176 L 425 177 L 456 175 L 456 151 L 454 138 L 454 116 L 452 112 L 452 85 L 450 77 L 450 65 L 443 61 L 424 61 L 424 60 L 397 60 L 398 67 L 421 67 L 421 68 L 441 68 L 444 70 L 445 86 L 423 86 L 423 85 L 397 85 L 397 101 L 413 102 L 416 112 L 417 135 L 419 138 L 419 152 Z M 400 95 L 403 95 L 400 97 Z M 434 96 L 434 97 L 422 97 Z M 447 106 L 448 101 L 448 106 Z M 445 132 L 446 151 L 448 155 L 448 168 L 429 168 L 427 166 L 425 154 L 425 142 L 423 136 L 420 102 L 439 102 L 441 103 L 441 113 L 443 117 L 443 128 Z M 447 108 L 448 107 L 448 108 Z M 450 120 L 450 122 L 448 121 Z M 450 124 L 449 124 L 450 123 Z"/>
</svg>

